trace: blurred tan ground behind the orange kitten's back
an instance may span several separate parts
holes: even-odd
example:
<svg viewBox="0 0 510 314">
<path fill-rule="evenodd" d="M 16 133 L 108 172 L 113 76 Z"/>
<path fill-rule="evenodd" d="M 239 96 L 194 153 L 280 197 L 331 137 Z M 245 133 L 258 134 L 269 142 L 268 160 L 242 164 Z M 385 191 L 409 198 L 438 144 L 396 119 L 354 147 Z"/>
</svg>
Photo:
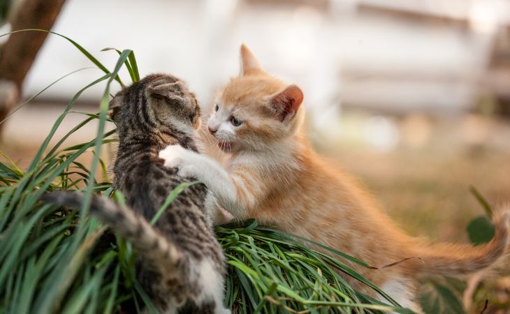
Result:
<svg viewBox="0 0 510 314">
<path fill-rule="evenodd" d="M 345 114 L 343 119 L 349 124 L 354 117 Z M 388 151 L 370 149 L 349 137 L 315 144 L 357 177 L 409 234 L 467 241 L 467 224 L 484 214 L 471 186 L 491 205 L 510 206 L 510 121 L 465 115 L 407 117 L 395 119 L 395 124 L 400 142 Z M 412 133 L 422 139 L 406 139 Z"/>
</svg>

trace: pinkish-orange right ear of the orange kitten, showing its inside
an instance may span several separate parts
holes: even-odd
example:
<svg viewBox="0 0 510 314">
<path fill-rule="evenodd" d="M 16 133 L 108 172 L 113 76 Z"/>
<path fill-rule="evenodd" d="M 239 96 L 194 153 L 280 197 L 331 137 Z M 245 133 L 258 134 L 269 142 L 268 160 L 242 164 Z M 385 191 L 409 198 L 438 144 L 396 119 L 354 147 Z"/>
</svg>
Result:
<svg viewBox="0 0 510 314">
<path fill-rule="evenodd" d="M 303 91 L 292 84 L 283 91 L 270 96 L 269 104 L 275 110 L 279 121 L 291 119 L 296 115 L 301 103 L 303 103 Z"/>
</svg>

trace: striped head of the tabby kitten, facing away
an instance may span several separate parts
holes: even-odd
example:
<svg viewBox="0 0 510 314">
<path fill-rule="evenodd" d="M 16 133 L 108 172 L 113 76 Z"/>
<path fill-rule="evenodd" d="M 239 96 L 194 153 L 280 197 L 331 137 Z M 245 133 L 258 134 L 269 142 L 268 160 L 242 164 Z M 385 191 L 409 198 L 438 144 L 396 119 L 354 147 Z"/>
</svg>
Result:
<svg viewBox="0 0 510 314">
<path fill-rule="evenodd" d="M 110 101 L 119 138 L 127 135 L 194 133 L 200 107 L 187 85 L 173 75 L 152 74 L 119 91 Z"/>
</svg>

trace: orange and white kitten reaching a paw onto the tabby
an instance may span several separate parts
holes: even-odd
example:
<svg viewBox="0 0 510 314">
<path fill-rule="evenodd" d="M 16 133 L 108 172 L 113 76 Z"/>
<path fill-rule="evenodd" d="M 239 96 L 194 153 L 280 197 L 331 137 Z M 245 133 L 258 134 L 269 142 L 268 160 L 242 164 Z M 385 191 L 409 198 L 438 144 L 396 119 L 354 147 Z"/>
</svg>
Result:
<svg viewBox="0 0 510 314">
<path fill-rule="evenodd" d="M 219 147 L 230 154 L 226 167 L 182 149 L 161 151 L 168 167 L 204 182 L 235 218 L 312 239 L 385 269 L 350 264 L 402 306 L 415 304 L 420 274 L 469 274 L 504 255 L 510 211 L 495 218 L 496 234 L 484 246 L 430 245 L 404 234 L 347 176 L 317 155 L 305 136 L 303 92 L 268 75 L 245 45 L 242 73 L 233 77 L 214 104 L 207 123 Z M 369 288 L 347 276 L 361 291 Z M 376 296 L 377 297 L 377 296 Z"/>
</svg>

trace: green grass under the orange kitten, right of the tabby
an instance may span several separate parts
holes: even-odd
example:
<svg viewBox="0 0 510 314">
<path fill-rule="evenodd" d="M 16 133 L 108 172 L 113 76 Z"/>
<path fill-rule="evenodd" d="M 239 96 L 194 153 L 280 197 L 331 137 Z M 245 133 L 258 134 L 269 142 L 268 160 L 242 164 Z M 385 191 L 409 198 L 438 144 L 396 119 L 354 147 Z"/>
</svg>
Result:
<svg viewBox="0 0 510 314">
<path fill-rule="evenodd" d="M 218 227 L 217 234 L 231 266 L 227 305 L 238 313 L 411 313 L 356 292 L 338 270 L 372 284 L 342 259 L 314 251 L 290 234 L 258 227 L 254 220 Z"/>
</svg>

